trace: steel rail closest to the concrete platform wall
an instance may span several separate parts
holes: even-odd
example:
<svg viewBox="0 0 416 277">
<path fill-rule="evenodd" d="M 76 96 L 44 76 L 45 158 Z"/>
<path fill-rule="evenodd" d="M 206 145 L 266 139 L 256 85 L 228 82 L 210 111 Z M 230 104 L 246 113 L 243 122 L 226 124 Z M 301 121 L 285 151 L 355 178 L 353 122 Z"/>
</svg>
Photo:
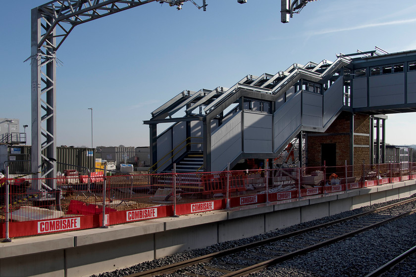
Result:
<svg viewBox="0 0 416 277">
<path fill-rule="evenodd" d="M 208 261 L 211 261 L 211 260 L 216 259 L 216 258 L 220 258 L 220 257 L 226 256 L 226 255 L 234 254 L 236 252 L 244 251 L 244 250 L 251 249 L 251 248 L 256 248 L 256 247 L 259 247 L 259 246 L 262 246 L 262 245 L 265 245 L 265 244 L 268 244 L 268 243 L 271 243 L 271 242 L 275 242 L 275 241 L 282 240 L 282 239 L 285 239 L 285 238 L 297 236 L 297 235 L 300 235 L 300 234 L 303 234 L 303 233 L 306 233 L 306 232 L 309 232 L 309 231 L 314 231 L 314 230 L 317 230 L 317 229 L 329 227 L 331 225 L 335 225 L 335 224 L 338 224 L 338 223 L 341 223 L 341 222 L 344 222 L 344 221 L 348 221 L 348 220 L 351 220 L 351 219 L 354 219 L 354 218 L 363 217 L 363 216 L 371 214 L 371 213 L 376 213 L 376 212 L 379 212 L 379 211 L 383 211 L 383 210 L 389 209 L 391 207 L 403 205 L 403 204 L 406 204 L 406 203 L 409 203 L 409 202 L 412 202 L 412 201 L 415 201 L 415 200 L 416 200 L 416 197 L 411 198 L 411 199 L 407 199 L 407 200 L 404 200 L 404 201 L 401 201 L 401 202 L 397 202 L 397 203 L 394 203 L 394 204 L 390 204 L 390 205 L 387 205 L 387 206 L 384 206 L 384 207 L 381 207 L 381 208 L 366 211 L 364 213 L 360 213 L 360 214 L 357 214 L 357 215 L 352 215 L 352 216 L 349 216 L 349 217 L 346 217 L 346 218 L 337 219 L 337 220 L 334 220 L 334 221 L 331 221 L 331 222 L 327 222 L 327 223 L 315 225 L 315 226 L 312 226 L 312 227 L 308 227 L 308 228 L 305 228 L 305 229 L 302 229 L 302 230 L 297 230 L 297 231 L 281 234 L 281 235 L 278 235 L 278 236 L 275 236 L 275 237 L 270 237 L 270 238 L 266 238 L 266 239 L 263 239 L 263 240 L 260 240 L 260 241 L 255 241 L 255 242 L 251 242 L 251 243 L 248 243 L 248 244 L 236 246 L 236 247 L 233 247 L 233 248 L 230 248 L 230 249 L 221 250 L 221 251 L 218 251 L 218 252 L 214 252 L 214 253 L 203 255 L 203 256 L 200 256 L 200 257 L 193 258 L 193 259 L 189 259 L 189 260 L 186 260 L 186 261 L 181 261 L 181 262 L 178 262 L 178 263 L 169 264 L 169 265 L 162 266 L 162 267 L 155 268 L 155 269 L 151 269 L 151 270 L 148 270 L 148 271 L 135 273 L 135 274 L 129 275 L 128 277 L 153 277 L 153 276 L 157 276 L 157 275 L 161 275 L 161 274 L 173 273 L 173 272 L 175 272 L 179 269 L 183 269 L 185 267 L 189 267 L 189 266 L 193 266 L 193 265 L 196 265 L 196 264 L 208 262 Z M 289 255 L 289 254 L 287 254 L 287 255 Z M 285 256 L 287 256 L 287 255 L 285 255 Z M 284 257 L 284 256 L 281 256 L 281 257 Z M 226 275 L 226 276 L 228 276 L 228 275 Z M 232 275 L 230 275 L 230 276 L 232 276 Z"/>
</svg>

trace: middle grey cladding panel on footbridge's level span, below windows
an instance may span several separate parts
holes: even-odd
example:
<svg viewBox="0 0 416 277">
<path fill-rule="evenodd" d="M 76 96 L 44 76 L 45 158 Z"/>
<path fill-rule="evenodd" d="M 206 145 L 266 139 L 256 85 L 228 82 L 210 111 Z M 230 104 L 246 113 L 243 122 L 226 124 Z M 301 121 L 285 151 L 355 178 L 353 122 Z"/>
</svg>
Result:
<svg viewBox="0 0 416 277">
<path fill-rule="evenodd" d="M 404 73 L 370 77 L 370 106 L 403 104 L 405 102 Z"/>
</svg>

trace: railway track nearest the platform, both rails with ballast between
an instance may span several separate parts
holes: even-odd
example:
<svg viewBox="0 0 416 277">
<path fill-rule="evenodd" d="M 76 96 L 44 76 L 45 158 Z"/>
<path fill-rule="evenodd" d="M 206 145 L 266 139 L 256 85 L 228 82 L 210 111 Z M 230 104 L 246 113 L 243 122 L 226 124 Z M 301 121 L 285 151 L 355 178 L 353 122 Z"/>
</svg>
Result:
<svg viewBox="0 0 416 277">
<path fill-rule="evenodd" d="M 246 276 L 416 212 L 416 198 L 358 215 L 129 275 Z M 195 270 L 194 270 L 195 269 Z M 198 272 L 195 274 L 193 272 Z M 203 272 L 203 274 L 201 274 Z"/>
</svg>

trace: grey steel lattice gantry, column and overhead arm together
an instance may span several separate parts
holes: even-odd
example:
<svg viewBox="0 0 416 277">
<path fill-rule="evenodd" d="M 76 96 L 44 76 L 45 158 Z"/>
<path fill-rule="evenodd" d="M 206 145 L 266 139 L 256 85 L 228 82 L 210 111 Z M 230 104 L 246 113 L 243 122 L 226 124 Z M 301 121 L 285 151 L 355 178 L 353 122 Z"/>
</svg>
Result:
<svg viewBox="0 0 416 277">
<path fill-rule="evenodd" d="M 156 0 L 54 0 L 31 12 L 31 95 L 32 95 L 32 174 L 33 178 L 48 178 L 48 186 L 55 188 L 56 177 L 56 57 L 75 26 Z M 157 0 L 178 10 L 188 0 Z M 198 5 L 206 10 L 205 0 Z M 310 0 L 281 0 L 282 22 L 297 13 Z M 247 0 L 237 0 L 245 3 Z M 285 20 L 283 20 L 285 18 Z M 42 185 L 32 182 L 32 189 Z"/>
</svg>

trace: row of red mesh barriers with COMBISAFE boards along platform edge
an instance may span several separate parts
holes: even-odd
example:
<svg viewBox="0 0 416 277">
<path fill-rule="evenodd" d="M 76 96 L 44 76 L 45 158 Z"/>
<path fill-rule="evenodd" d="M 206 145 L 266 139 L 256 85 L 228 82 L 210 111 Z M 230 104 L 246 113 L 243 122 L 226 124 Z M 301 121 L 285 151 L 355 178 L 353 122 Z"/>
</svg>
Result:
<svg viewBox="0 0 416 277">
<path fill-rule="evenodd" d="M 65 178 L 56 178 L 56 188 L 60 188 L 63 194 L 60 205 L 56 201 L 60 190 L 49 191 L 47 199 L 37 201 L 29 199 L 37 194 L 26 194 L 29 183 L 47 184 L 47 180 L 9 179 L 9 208 L 13 219 L 9 222 L 9 234 L 18 237 L 101 227 L 103 204 L 105 225 L 123 224 L 168 217 L 175 213 L 184 215 L 224 209 L 227 205 L 226 195 L 229 197 L 230 207 L 244 209 L 266 201 L 290 200 L 300 196 L 413 180 L 416 179 L 416 175 L 412 173 L 412 169 L 414 168 L 411 166 L 409 169 L 403 169 L 400 165 L 388 164 L 290 168 L 260 172 L 244 170 L 116 175 L 108 176 L 105 180 L 104 172 L 94 172 L 91 174 L 89 186 L 87 175 L 78 176 L 78 171 L 66 170 Z M 5 181 L 5 178 L 1 179 L 0 184 Z M 176 191 L 173 189 L 174 184 Z M 4 205 L 4 185 L 0 185 L 0 195 L 0 205 Z M 174 200 L 177 202 L 176 210 Z M 3 206 L 0 210 L 3 218 L 4 208 Z M 25 218 L 25 208 L 38 210 Z M 59 211 L 60 208 L 62 211 Z M 0 221 L 0 233 L 4 237 L 4 219 Z"/>
</svg>

